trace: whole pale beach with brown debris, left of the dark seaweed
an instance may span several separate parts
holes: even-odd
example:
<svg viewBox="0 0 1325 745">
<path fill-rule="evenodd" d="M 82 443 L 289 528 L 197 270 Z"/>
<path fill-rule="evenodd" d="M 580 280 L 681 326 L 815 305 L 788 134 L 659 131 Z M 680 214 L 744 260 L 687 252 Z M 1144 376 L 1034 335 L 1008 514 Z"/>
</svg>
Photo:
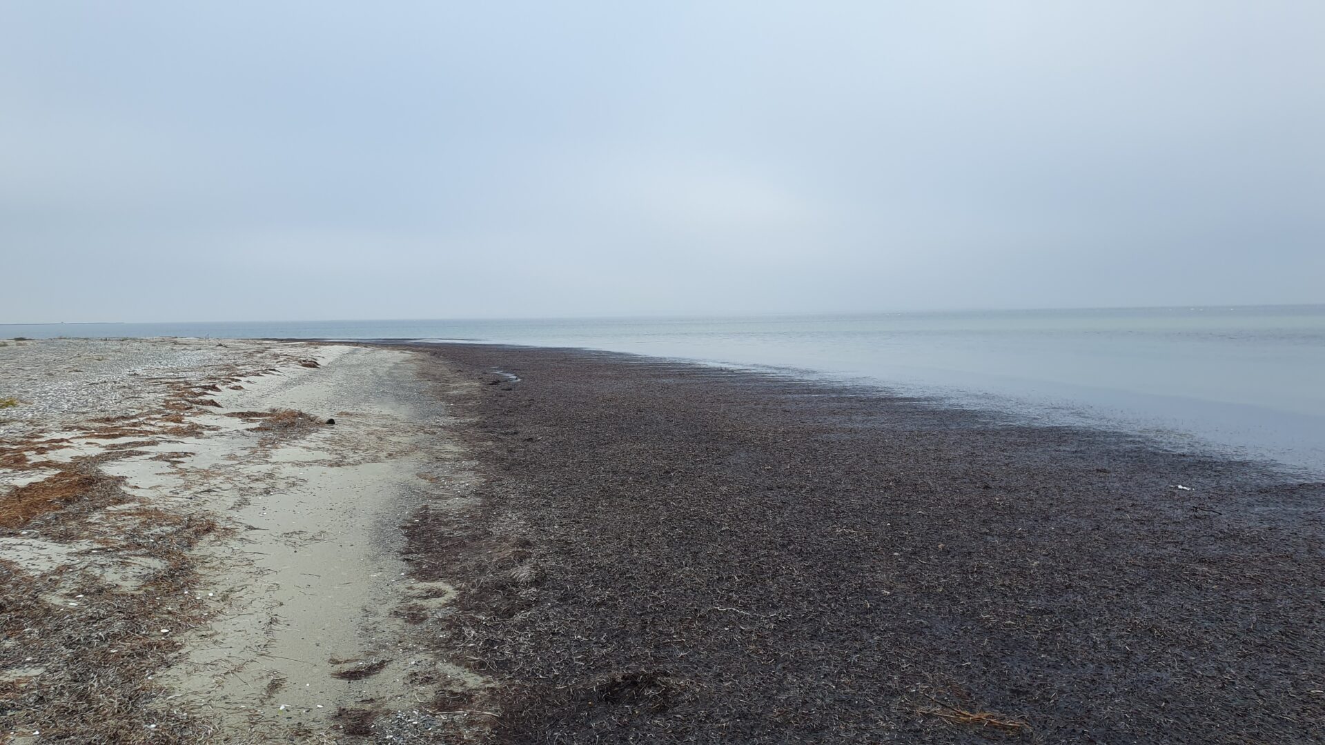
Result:
<svg viewBox="0 0 1325 745">
<path fill-rule="evenodd" d="M 20 402 L 0 424 L 5 732 L 322 742 L 362 729 L 366 709 L 417 728 L 439 692 L 482 687 L 405 620 L 453 590 L 411 581 L 400 526 L 468 484 L 412 357 L 0 349 L 0 390 Z"/>
</svg>

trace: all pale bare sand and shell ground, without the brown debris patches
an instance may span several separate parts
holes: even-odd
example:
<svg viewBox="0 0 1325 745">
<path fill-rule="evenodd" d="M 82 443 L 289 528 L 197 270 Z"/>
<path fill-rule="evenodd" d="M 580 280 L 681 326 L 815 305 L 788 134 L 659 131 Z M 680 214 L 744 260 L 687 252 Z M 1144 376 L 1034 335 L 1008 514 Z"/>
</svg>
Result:
<svg viewBox="0 0 1325 745">
<path fill-rule="evenodd" d="M 28 408 L 0 423 L 5 452 L 38 443 L 29 445 L 32 463 L 54 465 L 0 468 L 0 497 L 61 463 L 121 447 L 98 468 L 123 477 L 131 498 L 86 518 L 99 544 L 40 530 L 0 536 L 8 566 L 42 578 L 77 562 L 78 571 L 134 593 L 162 566 L 135 555 L 131 541 L 121 547 L 105 538 L 150 533 L 119 514 L 163 509 L 232 529 L 189 553 L 201 579 L 188 594 L 203 601 L 207 622 L 152 630 L 184 643 L 167 669 L 142 671 L 166 687 L 154 707 L 167 726 L 201 717 L 220 726 L 220 742 L 334 741 L 341 724 L 333 715 L 342 708 L 427 711 L 439 692 L 484 685 L 428 654 L 412 639 L 421 627 L 403 618 L 405 608 L 415 620 L 445 614 L 453 591 L 405 579 L 400 526 L 424 504 L 458 506 L 469 483 L 445 411 L 415 375 L 415 353 L 213 339 L 36 342 L 7 351 L 19 363 L 0 371 L 0 387 L 17 388 Z M 318 365 L 301 365 L 307 359 Z M 50 367 L 64 372 L 44 382 Z M 72 384 L 70 375 L 94 379 Z M 216 388 L 205 398 L 189 398 L 209 384 Z M 311 419 L 280 428 L 233 416 L 270 410 Z M 170 422 L 140 423 L 171 411 Z M 58 436 L 73 439 L 40 449 Z M 52 602 L 80 601 L 57 593 Z M 42 669 L 0 672 L 40 685 Z"/>
</svg>

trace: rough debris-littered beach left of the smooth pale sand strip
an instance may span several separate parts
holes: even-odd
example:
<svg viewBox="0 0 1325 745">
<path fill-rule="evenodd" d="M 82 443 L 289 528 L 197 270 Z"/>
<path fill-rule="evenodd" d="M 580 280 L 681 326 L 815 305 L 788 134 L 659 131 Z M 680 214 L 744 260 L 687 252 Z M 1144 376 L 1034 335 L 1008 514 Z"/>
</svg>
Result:
<svg viewBox="0 0 1325 745">
<path fill-rule="evenodd" d="M 183 745 L 217 736 L 221 717 L 167 688 L 179 677 L 164 671 L 189 650 L 192 630 L 228 611 L 216 598 L 223 591 L 197 590 L 195 550 L 224 547 L 237 528 L 217 514 L 221 505 L 186 504 L 212 490 L 203 488 L 216 483 L 209 467 L 176 476 L 150 461 L 175 467 L 212 444 L 195 437 L 253 424 L 273 431 L 262 443 L 293 439 L 330 414 L 273 408 L 248 418 L 252 424 L 241 416 L 225 426 L 220 418 L 237 407 L 223 391 L 278 372 L 258 369 L 266 362 L 289 371 L 309 353 L 221 346 L 44 341 L 0 350 L 0 402 L 15 403 L 0 407 L 0 638 L 13 642 L 0 650 L 0 740 L 40 733 L 42 741 Z M 228 351 L 233 346 L 240 350 Z M 184 439 L 188 445 L 172 444 Z"/>
</svg>

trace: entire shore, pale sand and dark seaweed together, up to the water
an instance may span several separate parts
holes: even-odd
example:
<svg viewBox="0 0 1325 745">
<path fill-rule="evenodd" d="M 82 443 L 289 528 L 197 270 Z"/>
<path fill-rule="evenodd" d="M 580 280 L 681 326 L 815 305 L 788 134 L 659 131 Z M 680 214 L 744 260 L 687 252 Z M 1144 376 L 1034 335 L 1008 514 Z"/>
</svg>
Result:
<svg viewBox="0 0 1325 745">
<path fill-rule="evenodd" d="M 1325 485 L 575 350 L 0 347 L 34 742 L 1314 742 Z"/>
</svg>

